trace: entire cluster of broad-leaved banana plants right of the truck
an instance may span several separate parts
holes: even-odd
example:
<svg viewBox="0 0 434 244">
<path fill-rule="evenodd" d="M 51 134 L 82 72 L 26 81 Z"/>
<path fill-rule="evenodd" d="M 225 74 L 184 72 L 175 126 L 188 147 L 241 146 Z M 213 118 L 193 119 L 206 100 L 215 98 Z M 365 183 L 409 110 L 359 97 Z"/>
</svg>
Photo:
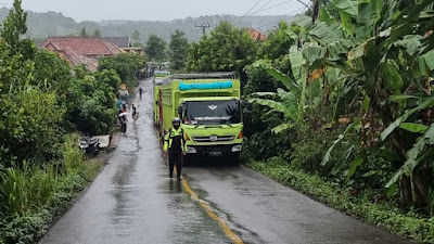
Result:
<svg viewBox="0 0 434 244">
<path fill-rule="evenodd" d="M 336 107 L 340 100 L 352 94 L 353 102 L 348 106 L 354 106 L 356 117 L 326 153 L 322 165 L 328 164 L 331 151 L 345 134 L 357 129 L 361 151 L 347 165 L 346 179 L 366 162 L 366 151 L 380 146 L 388 149 L 400 157 L 400 165 L 386 187 L 399 187 L 406 206 L 426 202 L 429 182 L 421 180 L 420 170 L 434 168 L 424 156 L 431 144 L 421 139 L 431 134 L 427 127 L 433 121 L 430 80 L 434 69 L 434 16 L 431 3 L 432 0 L 333 0 L 331 4 L 339 11 L 339 17 L 323 8 L 319 22 L 314 25 L 303 17 L 296 18 L 295 26 L 301 26 L 303 31 L 289 31 L 297 40 L 288 54 L 291 72 L 283 75 L 267 64 L 267 72 L 280 80 L 285 90 L 257 93 L 252 100 L 284 114 L 288 121 L 275 128 L 279 132 L 304 121 L 306 106 L 318 101 L 315 100 L 318 92 L 314 90 L 320 92 L 321 104 L 330 102 L 331 90 L 337 90 Z M 348 92 L 352 90 L 354 92 Z M 267 95 L 268 99 L 264 99 Z M 350 107 L 345 111 L 348 110 Z M 336 108 L 335 113 L 339 112 Z M 419 140 L 404 139 L 408 133 L 420 132 L 425 134 Z M 345 168 L 343 162 L 335 167 L 334 172 Z"/>
</svg>

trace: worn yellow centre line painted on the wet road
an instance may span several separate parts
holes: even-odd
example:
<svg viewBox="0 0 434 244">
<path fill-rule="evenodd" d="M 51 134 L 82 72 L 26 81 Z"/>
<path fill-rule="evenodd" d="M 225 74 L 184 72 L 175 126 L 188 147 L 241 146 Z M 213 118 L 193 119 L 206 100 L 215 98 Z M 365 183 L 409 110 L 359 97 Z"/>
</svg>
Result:
<svg viewBox="0 0 434 244">
<path fill-rule="evenodd" d="M 225 220 L 221 219 L 220 217 L 218 217 L 218 215 L 216 215 L 213 211 L 213 209 L 209 207 L 209 205 L 205 201 L 199 198 L 197 194 L 195 192 L 193 192 L 193 190 L 191 190 L 191 188 L 186 179 L 182 180 L 182 185 L 183 185 L 183 189 L 186 190 L 186 192 L 191 195 L 191 198 L 196 201 L 206 210 L 206 214 L 208 214 L 209 217 L 212 217 L 214 220 L 216 220 L 218 222 L 221 230 L 232 241 L 232 243 L 243 244 L 243 241 L 241 241 L 241 239 L 235 233 L 233 233 L 233 231 L 225 222 Z"/>
</svg>

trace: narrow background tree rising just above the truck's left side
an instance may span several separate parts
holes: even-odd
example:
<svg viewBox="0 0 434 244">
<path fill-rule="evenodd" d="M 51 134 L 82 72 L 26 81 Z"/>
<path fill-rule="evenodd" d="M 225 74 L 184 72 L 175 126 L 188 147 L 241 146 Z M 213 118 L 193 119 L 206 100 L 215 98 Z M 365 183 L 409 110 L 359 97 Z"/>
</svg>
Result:
<svg viewBox="0 0 434 244">
<path fill-rule="evenodd" d="M 177 29 L 170 35 L 169 56 L 171 68 L 175 70 L 184 68 L 188 55 L 189 40 L 186 37 L 186 33 Z"/>
</svg>

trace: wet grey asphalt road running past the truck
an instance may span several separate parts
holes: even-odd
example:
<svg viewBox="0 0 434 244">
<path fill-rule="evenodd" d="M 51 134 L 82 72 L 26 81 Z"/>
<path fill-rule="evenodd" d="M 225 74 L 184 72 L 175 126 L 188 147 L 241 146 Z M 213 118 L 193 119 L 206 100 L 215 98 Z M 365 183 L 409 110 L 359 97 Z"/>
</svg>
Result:
<svg viewBox="0 0 434 244">
<path fill-rule="evenodd" d="M 152 123 L 152 82 L 139 119 L 89 190 L 40 243 L 231 243 L 168 169 Z M 183 178 L 244 243 L 412 243 L 333 210 L 245 167 L 191 166 Z"/>
</svg>

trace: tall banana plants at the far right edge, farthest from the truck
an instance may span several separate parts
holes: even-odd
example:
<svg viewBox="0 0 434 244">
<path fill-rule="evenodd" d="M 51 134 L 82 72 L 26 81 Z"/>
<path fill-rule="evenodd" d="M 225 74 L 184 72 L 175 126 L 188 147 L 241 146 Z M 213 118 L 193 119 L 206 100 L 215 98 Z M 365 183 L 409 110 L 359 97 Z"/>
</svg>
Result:
<svg viewBox="0 0 434 244">
<path fill-rule="evenodd" d="M 419 204 L 423 206 L 427 198 L 429 182 L 417 176 L 417 166 L 433 168 L 426 162 L 427 157 L 423 156 L 429 143 L 423 143 L 425 140 L 421 139 L 431 133 L 426 127 L 432 123 L 434 105 L 429 84 L 434 60 L 432 0 L 332 2 L 340 10 L 339 26 L 347 40 L 345 44 L 349 43 L 349 47 L 346 56 L 329 60 L 328 65 L 339 66 L 348 74 L 347 82 L 354 82 L 353 87 L 362 91 L 360 104 L 368 101 L 366 110 L 360 113 L 360 133 L 365 139 L 361 143 L 366 146 L 362 149 L 384 145 L 399 155 L 403 167 L 386 187 L 397 187 L 395 183 L 398 182 L 405 205 L 423 203 Z M 335 23 L 323 10 L 320 20 L 323 24 L 320 22 L 317 27 Z M 321 30 L 330 31 L 324 28 Z M 317 36 L 324 40 L 320 35 Z M 384 127 L 387 128 L 384 130 Z M 409 144 L 404 138 L 406 133 L 414 132 L 425 134 L 411 146 L 412 142 Z M 416 164 L 414 158 L 425 160 Z M 323 164 L 327 162 L 328 154 Z M 360 162 L 356 165 L 359 166 Z"/>
</svg>

